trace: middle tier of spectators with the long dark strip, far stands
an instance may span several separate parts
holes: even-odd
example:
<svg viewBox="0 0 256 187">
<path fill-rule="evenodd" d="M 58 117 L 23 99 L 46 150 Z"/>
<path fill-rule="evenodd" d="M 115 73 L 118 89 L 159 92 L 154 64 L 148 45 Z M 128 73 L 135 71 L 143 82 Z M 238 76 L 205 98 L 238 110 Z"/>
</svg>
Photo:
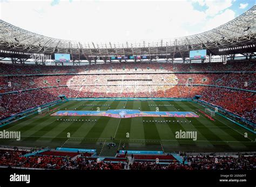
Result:
<svg viewBox="0 0 256 187">
<path fill-rule="evenodd" d="M 55 75 L 4 77 L 1 92 L 36 89 L 43 87 L 72 87 L 79 85 L 154 85 L 154 84 L 206 84 L 231 88 L 255 90 L 255 74 L 105 74 L 105 75 Z M 141 90 L 143 91 L 143 90 Z M 124 91 L 125 92 L 125 91 Z"/>
</svg>

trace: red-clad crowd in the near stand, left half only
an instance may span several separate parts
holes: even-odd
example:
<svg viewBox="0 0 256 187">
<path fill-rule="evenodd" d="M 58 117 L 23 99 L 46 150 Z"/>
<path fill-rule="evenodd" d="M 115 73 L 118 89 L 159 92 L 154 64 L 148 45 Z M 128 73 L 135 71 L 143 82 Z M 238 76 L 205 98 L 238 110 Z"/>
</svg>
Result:
<svg viewBox="0 0 256 187">
<path fill-rule="evenodd" d="M 125 166 L 120 162 L 97 162 L 82 157 L 77 157 L 75 160 L 72 160 L 70 156 L 36 155 L 25 157 L 25 153 L 29 152 L 0 149 L 0 166 L 64 170 L 119 170 L 124 169 Z"/>
</svg>

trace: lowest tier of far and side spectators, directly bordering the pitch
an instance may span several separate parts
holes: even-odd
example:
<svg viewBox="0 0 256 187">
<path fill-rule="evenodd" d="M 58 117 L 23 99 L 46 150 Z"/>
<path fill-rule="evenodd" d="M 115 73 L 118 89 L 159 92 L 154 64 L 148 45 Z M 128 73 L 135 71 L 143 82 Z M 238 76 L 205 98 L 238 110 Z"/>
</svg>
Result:
<svg viewBox="0 0 256 187">
<path fill-rule="evenodd" d="M 111 90 L 117 90 L 111 92 Z M 96 91 L 97 90 L 97 91 Z M 80 87 L 80 90 L 70 89 L 68 87 L 46 88 L 30 90 L 24 92 L 10 93 L 2 95 L 0 117 L 6 118 L 26 109 L 31 109 L 42 104 L 53 102 L 59 99 L 59 95 L 66 97 L 175 97 L 175 98 L 193 98 L 195 95 L 201 95 L 201 100 L 218 105 L 224 109 L 238 114 L 245 119 L 256 121 L 255 119 L 255 93 L 227 88 L 203 87 L 203 86 L 134 86 L 122 87 L 107 86 L 90 88 Z M 124 92 L 127 91 L 127 92 Z M 230 99 L 232 98 L 232 99 Z"/>
</svg>

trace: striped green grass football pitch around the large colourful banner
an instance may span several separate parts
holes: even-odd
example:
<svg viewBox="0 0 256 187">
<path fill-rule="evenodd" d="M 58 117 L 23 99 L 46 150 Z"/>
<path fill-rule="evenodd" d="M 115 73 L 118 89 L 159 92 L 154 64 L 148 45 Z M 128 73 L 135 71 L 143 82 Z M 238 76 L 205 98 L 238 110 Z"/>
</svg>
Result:
<svg viewBox="0 0 256 187">
<path fill-rule="evenodd" d="M 141 111 L 191 111 L 199 118 L 135 117 L 110 118 L 89 116 L 50 116 L 57 110 L 134 109 Z M 165 105 L 165 106 L 164 106 Z M 21 140 L 0 139 L 2 146 L 70 147 L 97 149 L 98 155 L 110 156 L 117 150 L 163 150 L 170 152 L 243 152 L 255 151 L 256 135 L 216 114 L 208 119 L 193 102 L 168 101 L 69 101 L 50 108 L 49 113 L 32 114 L 0 127 L 0 131 L 20 131 Z M 59 120 L 58 120 L 59 119 Z M 60 121 L 60 119 L 62 119 Z M 65 121 L 63 121 L 65 119 Z M 70 119 L 70 121 L 66 121 Z M 72 119 L 72 121 L 71 121 Z M 73 121 L 75 119 L 75 121 Z M 80 121 L 79 121 L 80 119 Z M 90 119 L 90 122 L 85 121 Z M 96 119 L 96 121 L 95 121 Z M 77 120 L 77 121 L 76 121 Z M 84 120 L 84 121 L 82 121 Z M 145 121 L 143 123 L 143 120 Z M 152 121 L 166 121 L 153 123 Z M 146 122 L 147 121 L 147 122 Z M 169 122 L 171 121 L 171 122 Z M 174 121 L 174 122 L 173 122 Z M 177 122 L 179 121 L 179 122 Z M 181 123 L 183 121 L 183 123 Z M 185 123 L 186 121 L 186 123 Z M 190 122 L 191 121 L 191 122 Z M 197 132 L 197 140 L 177 139 L 177 131 Z M 70 138 L 68 135 L 70 133 Z M 247 133 L 247 138 L 245 137 Z M 114 138 L 114 140 L 111 140 Z M 108 147 L 114 142 L 116 147 Z"/>
</svg>

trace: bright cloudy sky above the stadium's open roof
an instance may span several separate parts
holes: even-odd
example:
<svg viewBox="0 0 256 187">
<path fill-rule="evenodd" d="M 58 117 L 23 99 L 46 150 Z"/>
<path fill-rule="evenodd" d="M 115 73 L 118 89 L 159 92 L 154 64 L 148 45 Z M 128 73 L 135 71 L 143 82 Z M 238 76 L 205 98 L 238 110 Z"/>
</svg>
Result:
<svg viewBox="0 0 256 187">
<path fill-rule="evenodd" d="M 0 19 L 47 37 L 104 44 L 205 32 L 254 4 L 254 0 L 0 0 Z"/>
</svg>

